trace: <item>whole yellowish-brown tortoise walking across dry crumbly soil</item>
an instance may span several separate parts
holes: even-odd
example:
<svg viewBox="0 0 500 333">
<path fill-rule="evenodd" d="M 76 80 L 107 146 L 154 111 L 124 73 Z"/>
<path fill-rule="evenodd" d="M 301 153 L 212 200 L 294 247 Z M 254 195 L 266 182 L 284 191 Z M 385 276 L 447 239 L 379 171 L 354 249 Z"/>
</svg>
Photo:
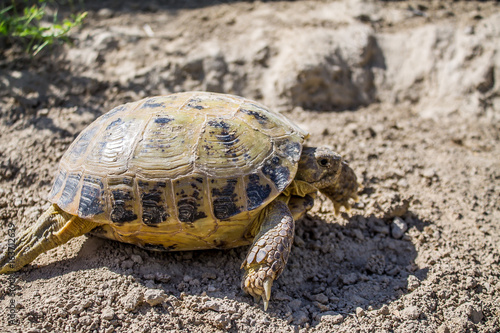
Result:
<svg viewBox="0 0 500 333">
<path fill-rule="evenodd" d="M 63 155 L 52 205 L 8 244 L 0 273 L 91 232 L 155 251 L 251 244 L 242 289 L 267 310 L 295 221 L 320 191 L 357 200 L 354 171 L 280 113 L 238 96 L 185 92 L 118 106 Z"/>
</svg>

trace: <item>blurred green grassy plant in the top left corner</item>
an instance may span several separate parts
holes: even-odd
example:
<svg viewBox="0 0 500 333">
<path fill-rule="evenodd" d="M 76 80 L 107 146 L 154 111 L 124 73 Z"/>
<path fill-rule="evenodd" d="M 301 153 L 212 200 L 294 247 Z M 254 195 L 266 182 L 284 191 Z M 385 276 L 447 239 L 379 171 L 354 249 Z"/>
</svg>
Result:
<svg viewBox="0 0 500 333">
<path fill-rule="evenodd" d="M 22 13 L 19 13 L 15 0 L 12 0 L 12 5 L 0 10 L 0 35 L 20 40 L 26 51 L 33 55 L 56 41 L 68 42 L 69 31 L 82 24 L 87 13 L 73 14 L 69 19 L 61 21 L 57 11 L 53 15 L 47 13 L 47 1 L 39 0 L 37 4 L 24 7 Z"/>
</svg>

